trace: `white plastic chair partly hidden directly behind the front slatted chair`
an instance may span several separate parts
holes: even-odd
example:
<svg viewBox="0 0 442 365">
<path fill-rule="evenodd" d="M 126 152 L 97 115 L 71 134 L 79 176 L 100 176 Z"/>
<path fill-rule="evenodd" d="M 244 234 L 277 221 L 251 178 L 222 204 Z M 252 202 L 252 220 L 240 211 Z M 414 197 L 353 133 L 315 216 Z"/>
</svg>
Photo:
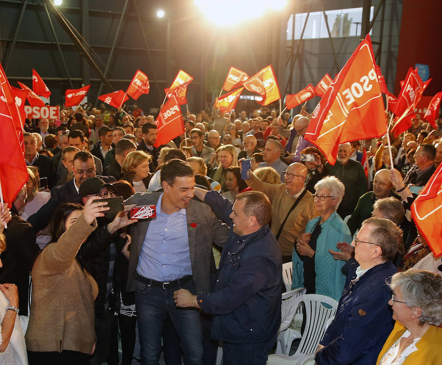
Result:
<svg viewBox="0 0 442 365">
<path fill-rule="evenodd" d="M 300 304 L 300 298 L 305 294 L 305 290 L 305 288 L 298 288 L 282 294 L 281 325 L 279 326 L 278 337 L 276 339 L 276 354 L 284 353 L 288 355 L 284 332 L 292 323 L 293 317 Z"/>
</svg>

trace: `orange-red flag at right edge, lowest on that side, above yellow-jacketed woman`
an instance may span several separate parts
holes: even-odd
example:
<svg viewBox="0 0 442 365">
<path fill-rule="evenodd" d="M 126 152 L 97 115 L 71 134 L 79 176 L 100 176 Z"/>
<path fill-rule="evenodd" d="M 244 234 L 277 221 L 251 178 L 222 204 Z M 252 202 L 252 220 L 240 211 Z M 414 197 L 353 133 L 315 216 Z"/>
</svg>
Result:
<svg viewBox="0 0 442 365">
<path fill-rule="evenodd" d="M 442 164 L 436 169 L 414 200 L 411 212 L 414 224 L 435 256 L 442 254 Z"/>
</svg>

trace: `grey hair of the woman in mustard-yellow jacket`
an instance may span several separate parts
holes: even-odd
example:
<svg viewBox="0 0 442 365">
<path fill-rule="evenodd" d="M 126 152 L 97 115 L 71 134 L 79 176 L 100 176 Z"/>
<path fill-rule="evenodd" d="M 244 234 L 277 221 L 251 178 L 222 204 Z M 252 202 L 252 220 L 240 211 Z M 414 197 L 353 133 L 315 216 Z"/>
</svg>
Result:
<svg viewBox="0 0 442 365">
<path fill-rule="evenodd" d="M 431 271 L 410 269 L 394 274 L 388 284 L 391 290 L 399 288 L 409 307 L 419 307 L 419 324 L 442 324 L 442 278 Z"/>
</svg>

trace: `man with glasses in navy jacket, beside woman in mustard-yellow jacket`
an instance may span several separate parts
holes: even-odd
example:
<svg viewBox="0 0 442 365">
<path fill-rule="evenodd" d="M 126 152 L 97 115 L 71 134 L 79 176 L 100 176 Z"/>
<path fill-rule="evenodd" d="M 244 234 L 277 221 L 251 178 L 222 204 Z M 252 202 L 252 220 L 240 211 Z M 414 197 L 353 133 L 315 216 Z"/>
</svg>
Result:
<svg viewBox="0 0 442 365">
<path fill-rule="evenodd" d="M 356 238 L 354 265 L 347 275 L 336 315 L 315 355 L 318 365 L 372 365 L 393 329 L 386 280 L 397 270 L 391 260 L 402 232 L 391 221 L 372 217 Z"/>
</svg>

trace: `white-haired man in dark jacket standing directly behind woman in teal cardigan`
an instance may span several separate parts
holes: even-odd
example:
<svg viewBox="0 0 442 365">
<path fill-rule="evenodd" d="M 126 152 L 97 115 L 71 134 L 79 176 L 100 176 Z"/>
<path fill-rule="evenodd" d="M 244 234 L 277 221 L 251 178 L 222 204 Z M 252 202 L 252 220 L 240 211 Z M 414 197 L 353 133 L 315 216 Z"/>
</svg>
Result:
<svg viewBox="0 0 442 365">
<path fill-rule="evenodd" d="M 350 143 L 342 143 L 339 145 L 336 164 L 326 164 L 330 175 L 336 176 L 345 186 L 344 198 L 337 209 L 342 219 L 353 213 L 359 198 L 367 192 L 364 168 L 358 161 L 350 160 L 350 153 Z"/>
</svg>

